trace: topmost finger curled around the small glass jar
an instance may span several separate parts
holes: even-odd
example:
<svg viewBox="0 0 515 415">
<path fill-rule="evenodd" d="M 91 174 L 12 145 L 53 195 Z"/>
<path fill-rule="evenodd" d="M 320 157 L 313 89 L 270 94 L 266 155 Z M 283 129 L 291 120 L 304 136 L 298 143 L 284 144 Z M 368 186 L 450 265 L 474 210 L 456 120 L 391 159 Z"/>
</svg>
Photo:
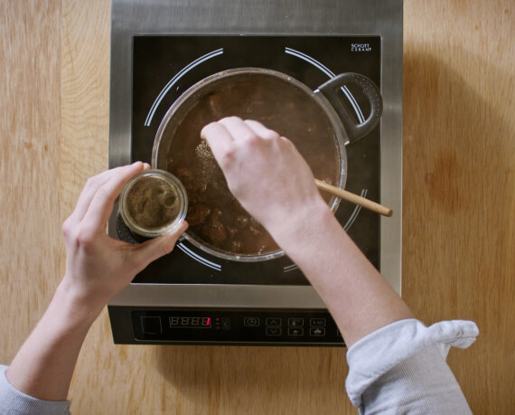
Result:
<svg viewBox="0 0 515 415">
<path fill-rule="evenodd" d="M 124 185 L 135 174 L 143 170 L 143 163 L 136 162 L 133 165 L 122 167 L 117 174 L 109 177 L 109 180 L 98 187 L 89 203 L 88 211 L 84 214 L 82 222 L 87 228 L 104 230 L 113 205 Z"/>
</svg>

